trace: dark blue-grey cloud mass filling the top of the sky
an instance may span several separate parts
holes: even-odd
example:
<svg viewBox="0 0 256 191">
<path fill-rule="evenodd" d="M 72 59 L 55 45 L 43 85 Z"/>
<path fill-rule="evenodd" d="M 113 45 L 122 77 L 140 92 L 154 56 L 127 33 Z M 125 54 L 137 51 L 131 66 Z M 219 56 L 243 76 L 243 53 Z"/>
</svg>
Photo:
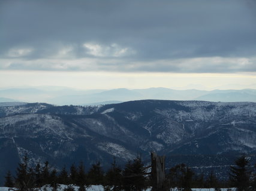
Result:
<svg viewBox="0 0 256 191">
<path fill-rule="evenodd" d="M 161 67 L 156 63 L 197 57 L 255 57 L 255 7 L 255 1 L 242 0 L 3 0 L 0 55 L 10 61 L 20 58 L 22 63 L 45 58 L 102 58 L 94 63 L 98 67 L 104 59 L 115 58 L 119 64 L 109 69 L 107 65 L 104 70 L 179 72 L 186 70 L 182 64 Z M 145 62 L 155 65 L 140 65 Z M 132 63 L 137 65 L 130 66 Z M 12 64 L 22 68 L 14 61 Z M 30 64 L 27 66 L 24 69 Z M 206 66 L 195 68 L 198 72 L 207 72 L 207 68 L 208 72 L 214 68 L 235 71 L 225 63 Z M 248 66 L 239 69 L 250 70 Z"/>
</svg>

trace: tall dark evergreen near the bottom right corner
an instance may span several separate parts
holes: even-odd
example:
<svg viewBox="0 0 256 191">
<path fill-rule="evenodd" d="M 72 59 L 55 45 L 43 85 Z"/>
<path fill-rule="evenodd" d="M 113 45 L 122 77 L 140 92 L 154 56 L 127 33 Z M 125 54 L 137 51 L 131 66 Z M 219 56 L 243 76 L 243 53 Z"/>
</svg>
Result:
<svg viewBox="0 0 256 191">
<path fill-rule="evenodd" d="M 237 191 L 249 190 L 249 160 L 245 156 L 241 156 L 235 161 L 236 166 L 230 167 L 231 186 L 236 187 Z"/>
</svg>

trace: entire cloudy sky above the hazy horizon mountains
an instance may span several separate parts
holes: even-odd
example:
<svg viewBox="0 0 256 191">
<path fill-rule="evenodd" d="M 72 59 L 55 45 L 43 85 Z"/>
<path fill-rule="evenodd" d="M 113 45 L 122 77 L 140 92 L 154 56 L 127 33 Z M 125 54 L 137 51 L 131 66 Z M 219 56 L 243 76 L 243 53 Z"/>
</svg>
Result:
<svg viewBox="0 0 256 191">
<path fill-rule="evenodd" d="M 255 0 L 0 1 L 0 88 L 256 88 Z"/>
</svg>

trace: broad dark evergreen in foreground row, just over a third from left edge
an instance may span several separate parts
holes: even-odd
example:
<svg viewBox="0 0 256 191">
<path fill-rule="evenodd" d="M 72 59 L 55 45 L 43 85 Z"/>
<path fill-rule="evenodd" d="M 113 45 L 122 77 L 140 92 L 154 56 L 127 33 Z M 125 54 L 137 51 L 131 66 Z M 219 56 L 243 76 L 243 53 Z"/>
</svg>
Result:
<svg viewBox="0 0 256 191">
<path fill-rule="evenodd" d="M 103 177 L 104 172 L 102 170 L 100 162 L 92 164 L 92 167 L 88 172 L 88 183 L 94 185 L 103 184 Z"/>
</svg>

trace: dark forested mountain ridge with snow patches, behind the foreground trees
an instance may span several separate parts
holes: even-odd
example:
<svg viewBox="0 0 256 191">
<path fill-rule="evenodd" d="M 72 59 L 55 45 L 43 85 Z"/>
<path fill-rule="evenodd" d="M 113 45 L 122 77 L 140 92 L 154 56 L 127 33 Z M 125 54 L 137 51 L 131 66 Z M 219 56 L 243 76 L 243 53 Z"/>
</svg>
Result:
<svg viewBox="0 0 256 191">
<path fill-rule="evenodd" d="M 120 164 L 141 153 L 167 156 L 167 167 L 187 162 L 197 170 L 225 174 L 245 152 L 255 159 L 256 103 L 138 100 L 103 106 L 29 103 L 0 107 L 0 172 L 46 159 L 56 167 L 113 156 Z M 207 168 L 206 168 L 207 167 Z M 221 174 L 220 174 L 221 175 Z M 227 175 L 227 174 L 226 174 Z"/>
</svg>

